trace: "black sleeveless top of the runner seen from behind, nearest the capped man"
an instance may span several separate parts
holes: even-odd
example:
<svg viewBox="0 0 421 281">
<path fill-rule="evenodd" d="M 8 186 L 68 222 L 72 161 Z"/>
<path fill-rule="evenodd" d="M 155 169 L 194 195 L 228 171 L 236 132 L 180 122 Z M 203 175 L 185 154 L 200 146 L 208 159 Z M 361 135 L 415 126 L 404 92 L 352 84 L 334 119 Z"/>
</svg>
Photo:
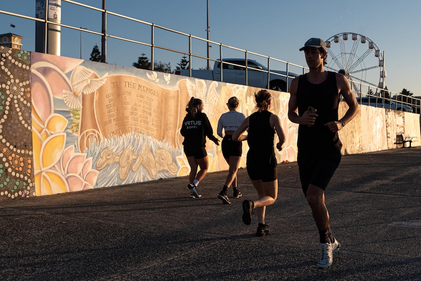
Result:
<svg viewBox="0 0 421 281">
<path fill-rule="evenodd" d="M 269 118 L 272 112 L 264 110 L 254 112 L 249 118 L 249 130 L 247 143 L 247 165 L 259 165 L 263 167 L 276 167 L 274 151 L 275 130 L 271 127 Z"/>
</svg>

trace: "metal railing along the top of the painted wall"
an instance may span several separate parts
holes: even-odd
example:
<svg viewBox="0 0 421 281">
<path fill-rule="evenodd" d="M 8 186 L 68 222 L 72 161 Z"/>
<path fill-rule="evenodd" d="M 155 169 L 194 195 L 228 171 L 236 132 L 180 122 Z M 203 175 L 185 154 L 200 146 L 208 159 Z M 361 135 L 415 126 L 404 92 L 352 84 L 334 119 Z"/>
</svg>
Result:
<svg viewBox="0 0 421 281">
<path fill-rule="evenodd" d="M 189 58 L 189 74 L 191 76 L 191 71 L 193 69 L 194 66 L 196 66 L 196 64 L 194 63 L 194 61 L 196 59 L 199 60 L 205 60 L 208 62 L 219 62 L 219 63 L 223 63 L 224 61 L 224 56 L 223 53 L 225 54 L 224 49 L 227 49 L 229 51 L 236 51 L 236 52 L 240 52 L 243 53 L 242 58 L 244 58 L 245 60 L 245 65 L 237 65 L 237 66 L 242 66 L 245 67 L 245 72 L 246 72 L 246 85 L 248 84 L 248 72 L 250 70 L 253 69 L 253 71 L 256 71 L 255 68 L 249 67 L 247 65 L 247 61 L 250 58 L 250 56 L 254 56 L 256 58 L 256 60 L 259 60 L 259 63 L 261 63 L 262 65 L 265 65 L 267 70 L 263 70 L 263 69 L 258 69 L 258 71 L 263 71 L 265 73 L 267 73 L 267 86 L 270 86 L 270 76 L 271 75 L 277 75 L 281 78 L 286 79 L 286 81 L 289 81 L 290 79 L 294 78 L 296 75 L 293 71 L 291 71 L 291 67 L 297 69 L 296 72 L 299 72 L 297 74 L 304 74 L 306 71 L 308 71 L 308 67 L 306 66 L 301 66 L 301 65 L 295 65 L 292 63 L 289 63 L 287 61 L 283 61 L 280 59 L 276 59 L 273 57 L 269 57 L 269 56 L 265 56 L 265 55 L 261 55 L 258 53 L 254 53 L 245 49 L 240 49 L 237 47 L 233 47 L 233 46 L 229 46 L 229 45 L 225 45 L 222 43 L 217 43 L 217 42 L 213 42 L 204 38 L 200 38 L 197 36 L 193 36 L 191 34 L 187 34 L 187 33 L 183 33 L 180 31 L 176 31 L 173 29 L 169 29 L 167 27 L 164 26 L 160 26 L 154 23 L 149 23 L 149 22 L 145 22 L 145 21 L 141 21 L 135 18 L 131 18 L 131 17 L 127 17 L 118 13 L 114 13 L 111 11 L 107 11 L 105 9 L 105 0 L 103 0 L 103 5 L 102 8 L 97 8 L 97 7 L 93 7 L 90 5 L 86 5 L 77 1 L 73 1 L 73 0 L 62 0 L 63 2 L 67 2 L 69 4 L 74 4 L 74 5 L 78 5 L 87 9 L 91 9 L 97 12 L 101 12 L 102 13 L 102 22 L 101 22 L 101 28 L 102 28 L 102 32 L 98 32 L 98 31 L 94 31 L 94 30 L 89 30 L 89 29 L 85 29 L 82 27 L 76 27 L 76 26 L 72 26 L 72 25 L 67 25 L 67 24 L 62 24 L 62 23 L 58 23 L 58 22 L 51 22 L 48 21 L 48 17 L 46 17 L 45 20 L 43 19 L 38 19 L 38 18 L 34 18 L 34 17 L 29 17 L 29 16 L 25 16 L 25 15 L 21 15 L 21 14 L 17 14 L 17 13 L 12 13 L 12 12 L 8 12 L 8 11 L 3 11 L 0 10 L 0 15 L 1 14 L 5 14 L 5 15 L 9 15 L 9 16 L 13 16 L 13 17 L 19 17 L 19 18 L 24 18 L 27 20 L 32 20 L 34 22 L 44 22 L 45 26 L 47 26 L 48 24 L 54 24 L 54 25 L 59 25 L 61 27 L 64 28 L 68 28 L 68 29 L 73 29 L 73 30 L 78 30 L 80 32 L 85 32 L 85 33 L 90 33 L 90 34 L 94 34 L 94 35 L 98 35 L 101 36 L 101 54 L 102 54 L 102 62 L 106 63 L 106 56 L 107 56 L 107 39 L 116 39 L 116 40 L 120 40 L 120 41 L 124 41 L 124 42 L 128 42 L 128 43 L 134 43 L 137 45 L 143 45 L 143 46 L 147 46 L 150 48 L 150 58 L 151 58 L 151 70 L 154 70 L 154 63 L 157 59 L 157 57 L 155 56 L 155 51 L 156 50 L 165 50 L 165 51 L 169 51 L 173 54 L 177 54 L 177 55 L 184 55 L 186 57 Z M 123 36 L 119 36 L 118 34 L 109 34 L 108 31 L 106 30 L 106 26 L 107 26 L 107 16 L 111 15 L 114 17 L 118 17 L 120 19 L 124 19 L 130 22 L 135 22 L 137 24 L 142 24 L 147 26 L 148 28 L 150 28 L 150 41 L 149 42 L 144 42 L 144 41 L 138 41 L 138 40 L 133 40 L 133 39 L 129 39 Z M 156 39 L 155 39 L 155 34 L 157 33 L 157 31 L 166 31 L 166 32 L 170 32 L 171 34 L 175 34 L 175 35 L 180 35 L 182 37 L 187 38 L 187 42 L 188 42 L 188 48 L 187 49 L 175 49 L 175 47 L 166 47 L 163 45 L 158 45 L 156 44 Z M 47 36 L 45 36 L 45 41 L 47 41 Z M 212 46 L 218 46 L 219 48 L 219 52 L 218 52 L 218 58 L 212 58 L 209 57 L 209 52 L 207 55 L 201 55 L 201 52 L 204 52 L 203 49 L 206 48 L 194 48 L 193 50 L 193 46 L 192 43 L 193 41 L 198 41 L 199 43 L 203 43 L 204 45 L 209 45 L 212 44 Z M 82 44 L 82 43 L 81 43 Z M 45 42 L 46 45 L 46 42 Z M 209 48 L 208 48 L 209 49 Z M 46 52 L 46 48 L 45 51 Z M 226 58 L 226 57 L 225 57 Z M 264 61 L 264 62 L 263 62 Z M 283 65 L 281 69 L 282 71 L 286 72 L 286 75 L 284 74 L 279 74 L 274 72 L 274 68 L 272 67 L 273 64 L 281 64 Z M 197 64 L 199 65 L 199 64 Z M 236 64 L 232 64 L 232 65 L 236 65 Z M 221 81 L 222 81 L 222 67 L 221 67 Z M 289 83 L 287 84 L 287 91 L 289 91 Z M 364 97 L 364 96 L 374 96 L 377 97 L 379 100 L 388 100 L 388 101 L 392 101 L 395 102 L 396 104 L 400 104 L 400 108 L 403 108 L 403 106 L 406 106 L 406 108 L 412 108 L 412 112 L 416 112 L 416 113 L 420 113 L 420 104 L 421 104 L 421 100 L 418 98 L 414 98 L 411 96 L 405 96 L 405 95 L 401 95 L 400 93 L 397 92 L 393 92 L 390 90 L 385 90 L 376 86 L 372 86 L 372 85 L 366 85 L 363 83 L 359 83 L 359 82 L 350 82 L 351 87 L 353 92 L 355 93 L 355 95 L 357 97 Z M 386 93 L 386 94 L 385 94 Z M 360 100 L 360 99 L 359 99 Z M 382 105 L 384 105 L 386 103 L 382 102 Z M 390 104 L 390 103 L 389 103 Z M 377 106 L 377 103 L 376 105 Z"/>
</svg>

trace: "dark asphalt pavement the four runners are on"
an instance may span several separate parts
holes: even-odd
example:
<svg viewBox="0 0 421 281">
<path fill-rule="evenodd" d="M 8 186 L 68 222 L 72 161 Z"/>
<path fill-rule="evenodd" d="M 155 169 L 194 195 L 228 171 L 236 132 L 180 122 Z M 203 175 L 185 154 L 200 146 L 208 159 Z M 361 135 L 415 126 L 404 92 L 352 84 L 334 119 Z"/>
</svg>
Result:
<svg viewBox="0 0 421 281">
<path fill-rule="evenodd" d="M 190 199 L 187 177 L 0 201 L 0 280 L 421 280 L 421 148 L 346 155 L 327 191 L 341 243 L 316 268 L 318 232 L 296 162 L 278 164 L 271 235 L 242 222 L 256 192 L 217 198 L 227 172 L 208 173 Z"/>
</svg>

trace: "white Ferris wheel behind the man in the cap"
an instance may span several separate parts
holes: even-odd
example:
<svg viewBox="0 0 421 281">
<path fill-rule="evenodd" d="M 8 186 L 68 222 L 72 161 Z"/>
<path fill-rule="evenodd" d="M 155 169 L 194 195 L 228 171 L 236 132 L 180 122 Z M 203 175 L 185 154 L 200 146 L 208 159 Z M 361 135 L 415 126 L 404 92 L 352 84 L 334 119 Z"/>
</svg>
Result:
<svg viewBox="0 0 421 281">
<path fill-rule="evenodd" d="M 331 56 L 325 67 L 335 72 L 344 71 L 355 91 L 359 91 L 359 83 L 383 88 L 386 77 L 384 55 L 372 40 L 345 32 L 332 36 L 325 43 Z"/>
</svg>

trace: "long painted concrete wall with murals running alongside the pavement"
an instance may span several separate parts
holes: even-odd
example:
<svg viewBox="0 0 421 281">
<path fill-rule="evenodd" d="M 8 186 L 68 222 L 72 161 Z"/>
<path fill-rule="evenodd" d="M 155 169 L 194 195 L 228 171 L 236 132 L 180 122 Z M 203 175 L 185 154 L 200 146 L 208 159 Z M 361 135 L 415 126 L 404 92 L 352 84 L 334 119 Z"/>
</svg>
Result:
<svg viewBox="0 0 421 281">
<path fill-rule="evenodd" d="M 0 199 L 188 175 L 180 127 L 189 98 L 204 101 L 216 135 L 228 99 L 237 96 L 248 116 L 259 90 L 3 47 L 0 54 Z M 295 161 L 289 93 L 272 93 L 287 133 L 277 161 Z M 341 103 L 339 115 L 345 110 Z M 420 138 L 420 115 L 361 106 L 339 132 L 342 153 L 392 149 L 402 132 Z M 209 172 L 228 169 L 220 146 L 208 141 L 207 151 Z"/>
</svg>

